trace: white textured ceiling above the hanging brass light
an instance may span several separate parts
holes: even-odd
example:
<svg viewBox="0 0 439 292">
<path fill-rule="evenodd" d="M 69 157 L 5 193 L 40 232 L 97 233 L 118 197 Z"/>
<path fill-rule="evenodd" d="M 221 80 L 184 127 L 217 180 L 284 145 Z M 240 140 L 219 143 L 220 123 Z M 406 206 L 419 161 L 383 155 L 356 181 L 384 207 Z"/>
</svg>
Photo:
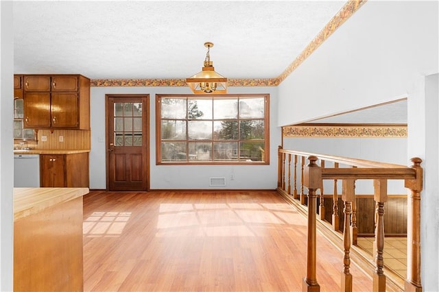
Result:
<svg viewBox="0 0 439 292">
<path fill-rule="evenodd" d="M 14 1 L 14 72 L 277 77 L 346 1 Z"/>
</svg>

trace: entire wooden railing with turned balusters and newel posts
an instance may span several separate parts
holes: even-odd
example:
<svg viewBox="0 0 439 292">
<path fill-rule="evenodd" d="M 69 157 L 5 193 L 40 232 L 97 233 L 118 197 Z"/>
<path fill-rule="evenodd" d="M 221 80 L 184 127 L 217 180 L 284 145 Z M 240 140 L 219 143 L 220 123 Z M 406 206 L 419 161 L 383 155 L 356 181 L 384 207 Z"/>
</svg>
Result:
<svg viewBox="0 0 439 292">
<path fill-rule="evenodd" d="M 291 171 L 291 161 L 294 156 L 294 170 Z M 387 202 L 387 183 L 388 180 L 405 180 L 405 187 L 410 188 L 411 195 L 407 204 L 407 278 L 405 279 L 405 291 L 422 291 L 420 281 L 420 192 L 423 189 L 423 168 L 420 166 L 420 158 L 412 158 L 412 167 L 402 165 L 392 165 L 388 163 L 375 162 L 369 160 L 344 158 L 340 156 L 329 156 L 324 154 L 312 154 L 302 151 L 291 151 L 278 148 L 279 171 L 278 191 L 293 195 L 294 199 L 299 199 L 301 205 L 307 204 L 308 217 L 308 236 L 307 236 L 307 274 L 303 282 L 303 291 L 320 291 L 320 285 L 316 278 L 316 220 L 318 208 L 316 206 L 316 191 L 320 189 L 320 215 L 319 219 L 324 219 L 323 200 L 323 180 L 333 180 L 333 230 L 338 230 L 338 207 L 337 207 L 337 181 L 342 180 L 342 201 L 344 204 L 344 230 L 343 247 L 344 257 L 342 263 L 342 291 L 352 291 L 353 276 L 350 272 L 351 265 L 351 245 L 356 244 L 356 204 L 355 204 L 355 180 L 373 180 L 374 199 L 376 202 L 375 210 L 375 243 L 374 243 L 374 262 L 375 271 L 373 272 L 373 291 L 385 291 L 386 277 L 383 271 L 384 260 L 384 206 Z M 300 158 L 300 194 L 297 196 L 296 173 L 297 162 Z M 305 166 L 305 158 L 309 164 Z M 285 166 L 285 161 L 288 165 Z M 318 160 L 322 167 L 318 165 Z M 329 168 L 324 162 L 333 162 Z M 347 165 L 348 167 L 339 167 Z M 287 168 L 287 171 L 286 169 Z M 288 186 L 285 186 L 285 173 L 288 173 Z M 293 191 L 291 191 L 291 172 L 294 173 Z M 303 187 L 308 189 L 307 202 Z M 287 190 L 285 189 L 287 188 Z"/>
</svg>

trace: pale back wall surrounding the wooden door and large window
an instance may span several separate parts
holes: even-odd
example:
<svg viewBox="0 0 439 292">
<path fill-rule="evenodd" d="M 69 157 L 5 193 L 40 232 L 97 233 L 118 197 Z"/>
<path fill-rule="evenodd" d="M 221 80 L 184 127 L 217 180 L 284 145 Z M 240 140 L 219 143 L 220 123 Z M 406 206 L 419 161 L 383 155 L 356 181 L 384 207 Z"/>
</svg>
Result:
<svg viewBox="0 0 439 292">
<path fill-rule="evenodd" d="M 150 95 L 150 188 L 227 188 L 274 189 L 277 186 L 277 147 L 281 145 L 281 130 L 276 127 L 276 87 L 232 87 L 228 93 L 270 93 L 270 165 L 156 165 L 156 94 L 190 94 L 186 87 L 92 87 L 91 88 L 91 152 L 90 188 L 106 188 L 105 95 Z M 234 180 L 230 180 L 230 175 Z M 211 187 L 209 178 L 224 176 L 226 186 Z"/>
</svg>

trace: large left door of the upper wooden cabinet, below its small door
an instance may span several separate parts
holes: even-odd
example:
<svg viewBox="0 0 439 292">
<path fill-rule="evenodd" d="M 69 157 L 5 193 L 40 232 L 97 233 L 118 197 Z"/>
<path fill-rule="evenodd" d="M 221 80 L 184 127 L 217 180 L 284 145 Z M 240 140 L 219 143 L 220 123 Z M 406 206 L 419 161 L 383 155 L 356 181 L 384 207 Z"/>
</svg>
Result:
<svg viewBox="0 0 439 292">
<path fill-rule="evenodd" d="M 26 93 L 24 127 L 50 127 L 50 93 Z"/>
</svg>

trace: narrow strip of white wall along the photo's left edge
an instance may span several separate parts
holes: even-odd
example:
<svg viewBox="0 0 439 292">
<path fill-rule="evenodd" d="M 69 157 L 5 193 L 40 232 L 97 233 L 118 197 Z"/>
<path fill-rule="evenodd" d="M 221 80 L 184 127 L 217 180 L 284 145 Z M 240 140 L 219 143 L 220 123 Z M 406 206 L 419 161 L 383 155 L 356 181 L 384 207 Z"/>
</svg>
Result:
<svg viewBox="0 0 439 292">
<path fill-rule="evenodd" d="M 0 1 L 0 291 L 12 291 L 13 227 L 12 156 L 14 117 L 14 34 L 12 32 L 12 1 Z"/>
</svg>

